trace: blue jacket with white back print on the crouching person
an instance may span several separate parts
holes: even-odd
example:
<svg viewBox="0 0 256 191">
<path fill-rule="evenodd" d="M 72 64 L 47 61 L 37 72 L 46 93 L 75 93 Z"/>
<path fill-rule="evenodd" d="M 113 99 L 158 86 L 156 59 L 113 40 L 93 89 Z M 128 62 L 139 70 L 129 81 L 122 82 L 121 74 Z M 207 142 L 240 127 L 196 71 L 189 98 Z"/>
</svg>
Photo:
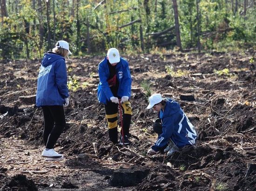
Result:
<svg viewBox="0 0 256 191">
<path fill-rule="evenodd" d="M 151 147 L 154 151 L 157 152 L 166 146 L 169 139 L 178 147 L 195 144 L 195 129 L 177 102 L 168 99 L 162 112 L 162 134 Z"/>
</svg>

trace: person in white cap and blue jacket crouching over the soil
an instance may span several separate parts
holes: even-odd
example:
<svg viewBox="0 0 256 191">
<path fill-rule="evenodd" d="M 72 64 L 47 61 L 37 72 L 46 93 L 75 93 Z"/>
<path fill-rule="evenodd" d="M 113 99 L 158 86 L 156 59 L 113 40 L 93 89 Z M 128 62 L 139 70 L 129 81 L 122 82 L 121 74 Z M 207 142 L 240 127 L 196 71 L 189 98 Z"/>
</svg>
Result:
<svg viewBox="0 0 256 191">
<path fill-rule="evenodd" d="M 147 109 L 150 108 L 158 112 L 158 118 L 153 124 L 158 139 L 148 150 L 149 155 L 164 150 L 170 156 L 184 146 L 195 144 L 195 129 L 177 102 L 170 98 L 163 99 L 161 94 L 154 94 L 149 97 Z"/>
</svg>

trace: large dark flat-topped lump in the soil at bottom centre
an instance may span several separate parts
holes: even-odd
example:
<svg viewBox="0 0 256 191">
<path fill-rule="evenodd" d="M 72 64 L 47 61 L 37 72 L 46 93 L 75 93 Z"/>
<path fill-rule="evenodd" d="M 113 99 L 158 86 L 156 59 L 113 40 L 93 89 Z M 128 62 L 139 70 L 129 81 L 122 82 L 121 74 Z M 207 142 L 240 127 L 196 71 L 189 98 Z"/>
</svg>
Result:
<svg viewBox="0 0 256 191">
<path fill-rule="evenodd" d="M 118 169 L 110 178 L 112 186 L 135 186 L 148 176 L 149 169 Z"/>
</svg>

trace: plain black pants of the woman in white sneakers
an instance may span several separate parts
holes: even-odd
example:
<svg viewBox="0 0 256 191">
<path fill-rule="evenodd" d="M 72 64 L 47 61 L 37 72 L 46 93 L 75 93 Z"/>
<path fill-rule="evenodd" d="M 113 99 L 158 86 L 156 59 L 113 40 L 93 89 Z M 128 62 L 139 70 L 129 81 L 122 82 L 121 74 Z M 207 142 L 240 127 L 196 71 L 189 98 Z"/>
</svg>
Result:
<svg viewBox="0 0 256 191">
<path fill-rule="evenodd" d="M 64 127 L 66 126 L 63 106 L 42 106 L 44 114 L 43 140 L 46 148 L 54 148 Z"/>
</svg>

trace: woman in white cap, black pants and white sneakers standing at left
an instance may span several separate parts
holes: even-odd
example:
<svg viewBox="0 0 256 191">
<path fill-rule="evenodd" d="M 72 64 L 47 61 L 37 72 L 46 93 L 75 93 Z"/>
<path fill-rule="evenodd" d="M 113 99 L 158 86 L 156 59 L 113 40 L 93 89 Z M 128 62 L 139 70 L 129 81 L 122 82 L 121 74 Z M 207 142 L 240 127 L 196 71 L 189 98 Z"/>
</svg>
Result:
<svg viewBox="0 0 256 191">
<path fill-rule="evenodd" d="M 58 41 L 52 51 L 45 53 L 38 74 L 36 105 L 43 109 L 45 149 L 41 156 L 46 160 L 63 159 L 62 154 L 54 151 L 54 145 L 66 125 L 63 107 L 69 103 L 65 63 L 68 54 L 68 43 Z"/>
</svg>

